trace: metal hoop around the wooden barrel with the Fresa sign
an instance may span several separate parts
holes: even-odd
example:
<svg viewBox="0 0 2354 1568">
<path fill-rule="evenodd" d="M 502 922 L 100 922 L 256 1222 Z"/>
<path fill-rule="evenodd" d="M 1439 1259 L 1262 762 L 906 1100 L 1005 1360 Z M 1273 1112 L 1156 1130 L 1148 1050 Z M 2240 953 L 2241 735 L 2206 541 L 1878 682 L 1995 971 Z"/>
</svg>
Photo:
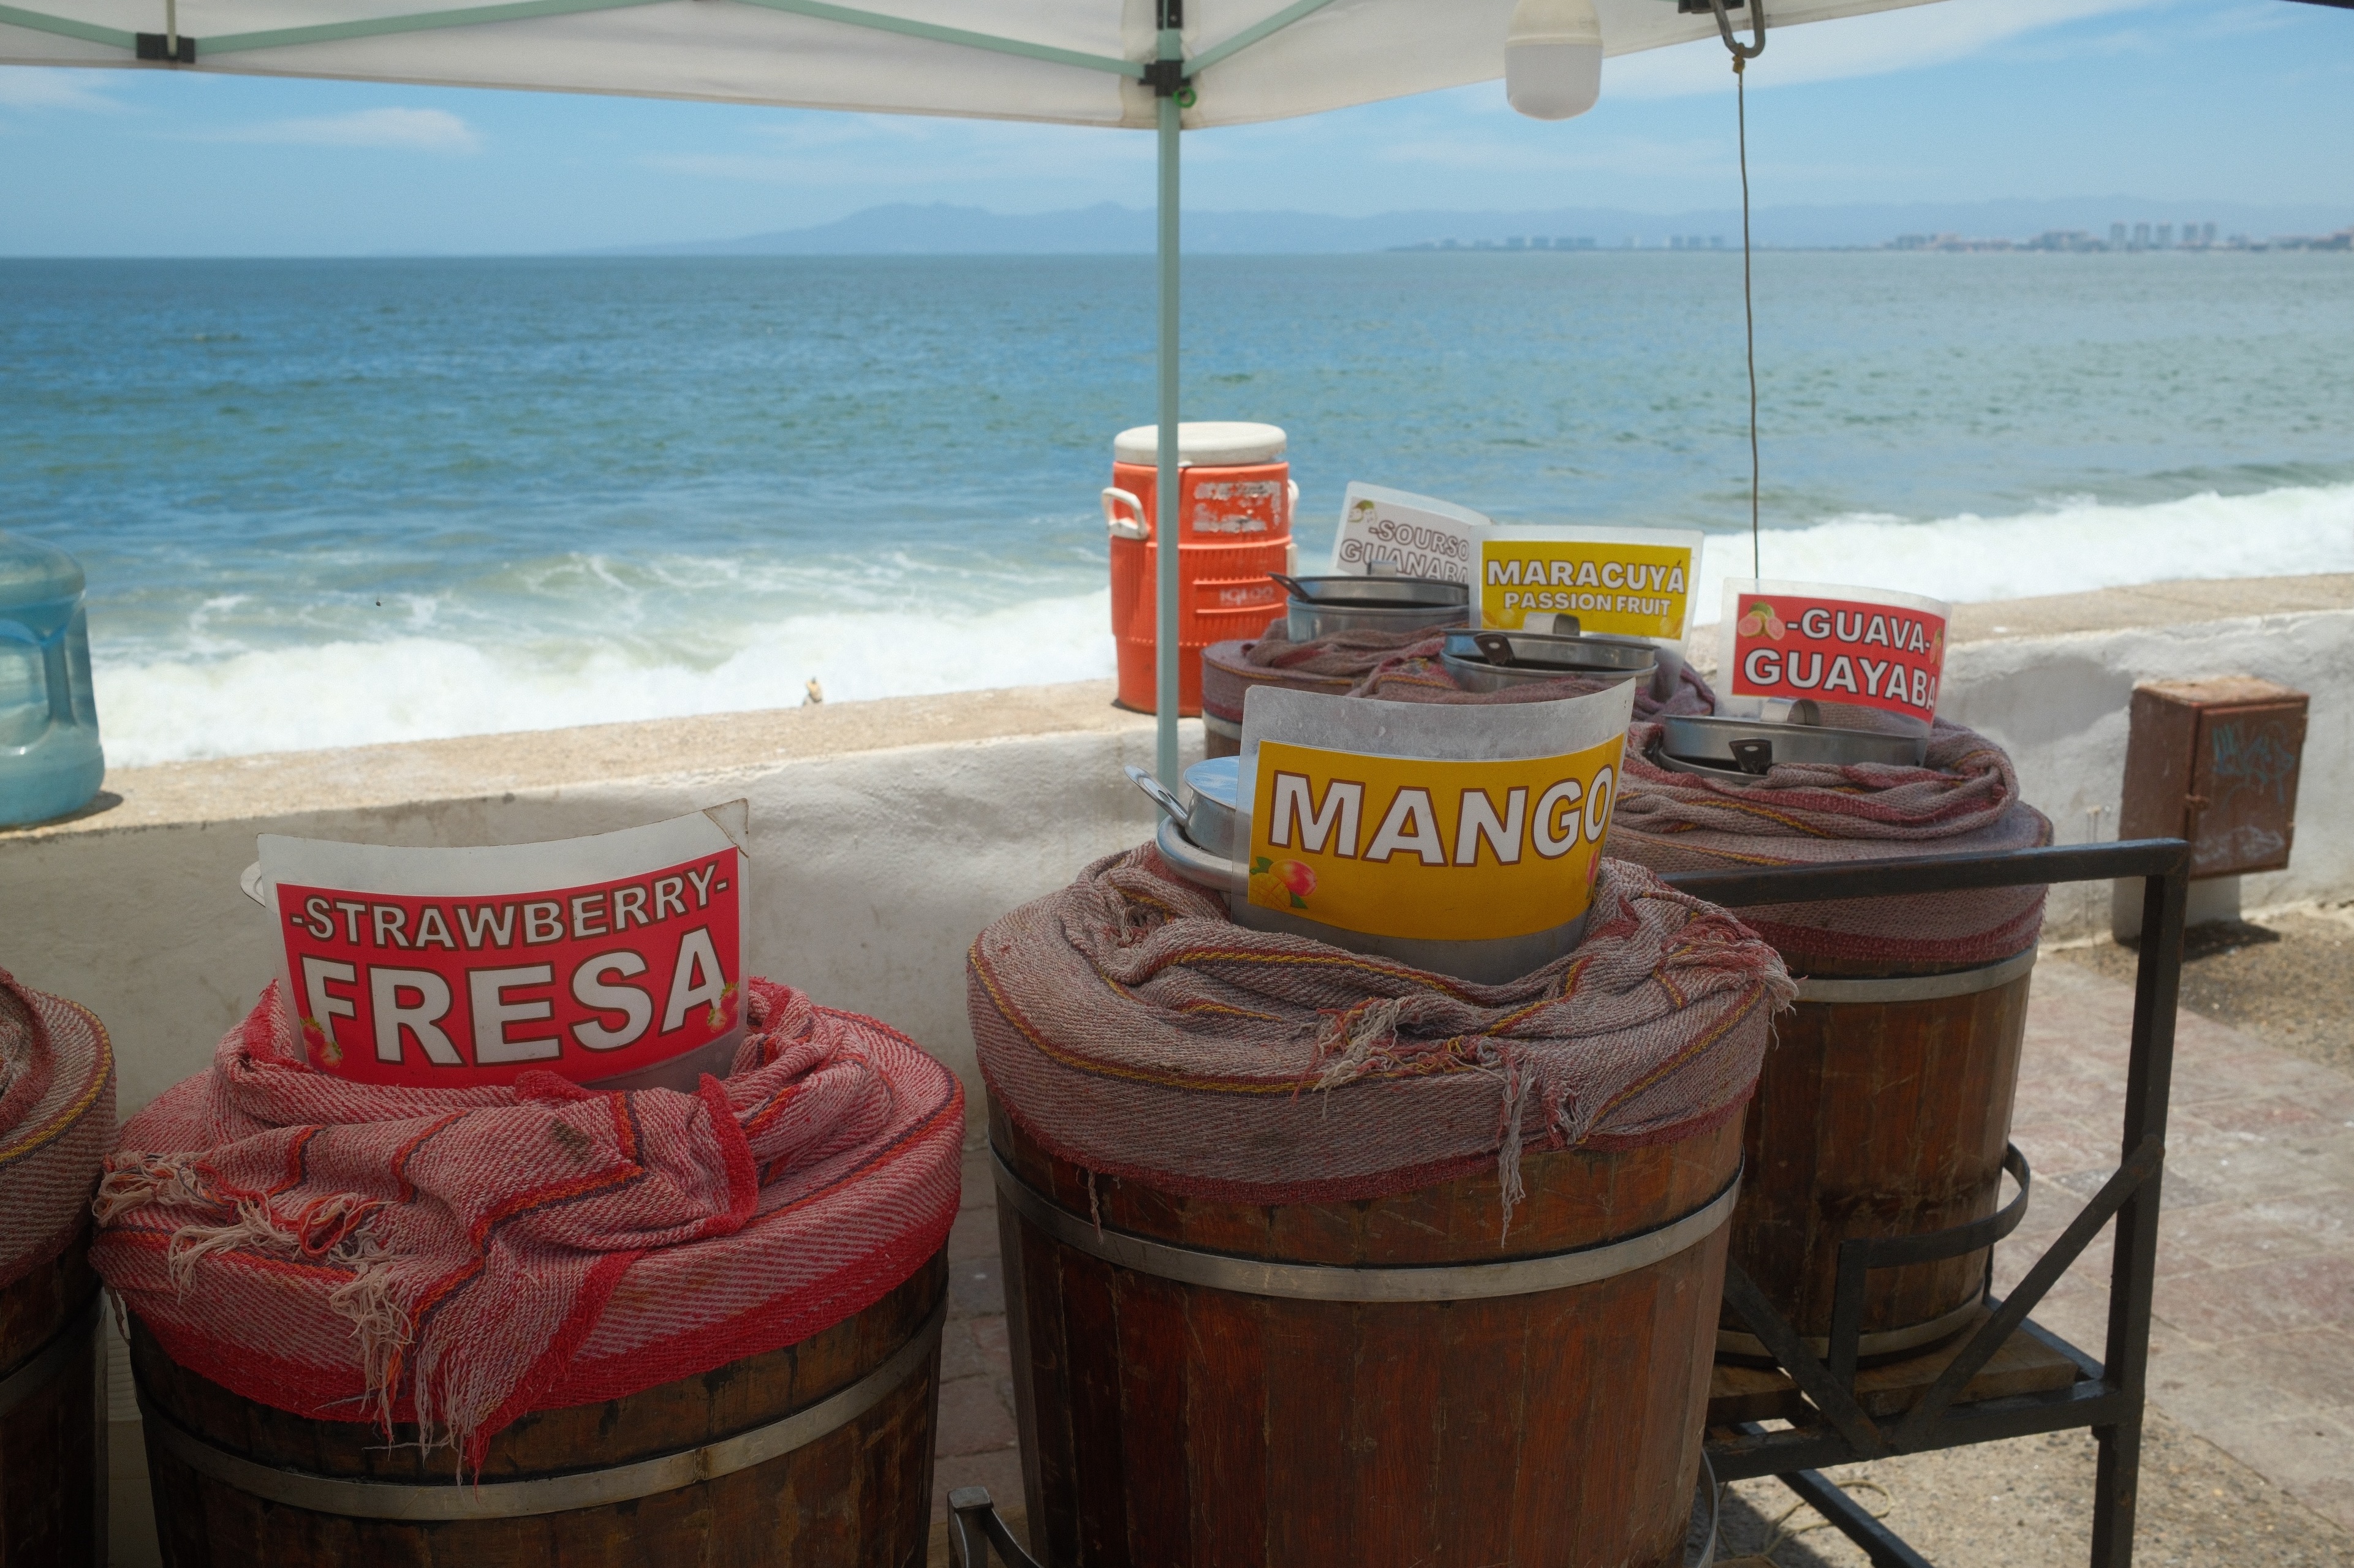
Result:
<svg viewBox="0 0 2354 1568">
<path fill-rule="evenodd" d="M 200 1476 L 233 1486 L 264 1502 L 341 1519 L 530 1519 L 673 1493 L 699 1481 L 716 1481 L 739 1469 L 767 1464 L 796 1448 L 807 1448 L 880 1406 L 909 1377 L 930 1366 L 939 1354 L 939 1330 L 946 1321 L 949 1297 L 944 1293 L 923 1326 L 878 1368 L 850 1387 L 819 1398 L 814 1406 L 803 1406 L 751 1431 L 629 1464 L 534 1476 L 527 1481 L 483 1481 L 478 1486 L 457 1481 L 358 1481 L 261 1464 L 181 1427 L 155 1406 L 146 1384 L 139 1384 L 139 1415 L 174 1460 Z"/>
</svg>

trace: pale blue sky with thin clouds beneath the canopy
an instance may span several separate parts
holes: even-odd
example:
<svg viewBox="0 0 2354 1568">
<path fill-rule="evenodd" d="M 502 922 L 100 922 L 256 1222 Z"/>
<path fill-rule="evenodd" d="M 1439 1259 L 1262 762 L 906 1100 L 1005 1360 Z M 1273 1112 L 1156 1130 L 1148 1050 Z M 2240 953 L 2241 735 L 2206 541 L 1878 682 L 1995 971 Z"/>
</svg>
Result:
<svg viewBox="0 0 2354 1568">
<path fill-rule="evenodd" d="M 1758 205 L 2135 195 L 2342 207 L 2354 12 L 1942 0 L 1794 28 L 1751 68 Z M 1135 132 L 165 71 L 0 68 L 0 254 L 548 252 L 878 202 L 1151 202 Z M 1502 85 L 1186 137 L 1186 205 L 1737 200 L 1721 45 L 1610 61 L 1565 125 Z"/>
</svg>

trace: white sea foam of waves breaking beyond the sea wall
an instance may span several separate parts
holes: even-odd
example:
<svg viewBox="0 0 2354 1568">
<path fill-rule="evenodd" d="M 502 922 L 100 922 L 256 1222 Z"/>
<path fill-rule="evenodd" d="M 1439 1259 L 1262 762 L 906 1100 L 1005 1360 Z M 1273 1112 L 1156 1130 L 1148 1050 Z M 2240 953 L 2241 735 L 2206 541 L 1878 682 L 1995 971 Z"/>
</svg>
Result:
<svg viewBox="0 0 2354 1568">
<path fill-rule="evenodd" d="M 1949 600 L 2032 598 L 2177 577 L 2354 572 L 2354 485 L 2196 494 L 2149 506 L 2069 501 L 2010 518 L 1843 516 L 1763 539 L 1766 574 L 1909 589 Z M 1711 534 L 1695 605 L 1718 617 L 1749 574 L 1747 534 Z M 1109 591 L 996 610 L 796 612 L 699 626 L 718 659 L 640 657 L 598 640 L 527 645 L 393 636 L 306 647 L 106 659 L 97 671 L 118 765 L 360 746 L 501 730 L 1090 680 L 1113 671 Z M 643 645 L 645 626 L 638 626 Z"/>
</svg>

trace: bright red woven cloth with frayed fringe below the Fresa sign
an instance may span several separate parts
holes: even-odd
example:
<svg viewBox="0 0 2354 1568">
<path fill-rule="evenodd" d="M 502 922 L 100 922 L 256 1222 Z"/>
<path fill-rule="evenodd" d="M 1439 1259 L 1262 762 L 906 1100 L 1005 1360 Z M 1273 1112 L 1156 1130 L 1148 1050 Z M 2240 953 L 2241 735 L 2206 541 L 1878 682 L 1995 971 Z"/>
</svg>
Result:
<svg viewBox="0 0 2354 1568">
<path fill-rule="evenodd" d="M 723 1083 L 358 1085 L 278 986 L 122 1128 L 92 1260 L 181 1366 L 480 1464 L 527 1410 L 807 1340 L 956 1217 L 963 1090 L 911 1041 L 751 982 Z"/>
</svg>

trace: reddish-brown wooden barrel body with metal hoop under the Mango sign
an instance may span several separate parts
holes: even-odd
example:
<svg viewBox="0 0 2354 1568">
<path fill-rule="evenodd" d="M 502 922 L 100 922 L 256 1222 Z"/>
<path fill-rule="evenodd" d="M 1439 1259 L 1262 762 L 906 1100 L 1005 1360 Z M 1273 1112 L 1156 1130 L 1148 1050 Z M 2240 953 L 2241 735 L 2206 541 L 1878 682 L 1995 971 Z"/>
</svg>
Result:
<svg viewBox="0 0 2354 1568">
<path fill-rule="evenodd" d="M 1358 1203 L 1090 1196 L 996 1107 L 991 1135 L 1050 1568 L 1683 1563 L 1737 1118 L 1528 1154 L 1509 1245 L 1495 1172 Z"/>
</svg>

